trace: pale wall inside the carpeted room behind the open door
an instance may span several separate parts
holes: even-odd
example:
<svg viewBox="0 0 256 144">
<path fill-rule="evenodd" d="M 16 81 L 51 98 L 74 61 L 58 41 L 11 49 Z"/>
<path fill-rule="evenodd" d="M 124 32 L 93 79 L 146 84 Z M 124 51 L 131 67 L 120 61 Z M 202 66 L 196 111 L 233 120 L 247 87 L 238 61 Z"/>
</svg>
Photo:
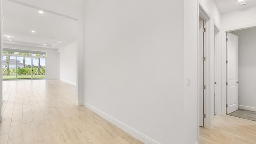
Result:
<svg viewBox="0 0 256 144">
<path fill-rule="evenodd" d="M 238 36 L 238 106 L 256 111 L 256 28 L 231 33 Z"/>
</svg>

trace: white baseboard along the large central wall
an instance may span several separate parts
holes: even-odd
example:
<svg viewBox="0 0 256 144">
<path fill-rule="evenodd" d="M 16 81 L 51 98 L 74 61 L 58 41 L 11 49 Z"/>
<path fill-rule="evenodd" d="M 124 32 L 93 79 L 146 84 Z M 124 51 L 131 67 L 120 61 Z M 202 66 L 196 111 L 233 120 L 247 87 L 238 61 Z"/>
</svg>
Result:
<svg viewBox="0 0 256 144">
<path fill-rule="evenodd" d="M 112 124 L 118 126 L 122 130 L 126 131 L 128 134 L 130 134 L 130 135 L 134 136 L 135 138 L 137 138 L 138 140 L 144 142 L 145 144 L 160 144 L 159 142 L 156 142 L 155 140 L 152 140 L 148 136 L 138 132 L 137 130 L 131 128 L 130 126 L 127 126 L 126 124 L 124 124 L 124 123 L 120 122 L 119 120 L 113 118 L 112 116 L 102 112 L 98 108 L 95 108 L 94 106 L 92 106 L 92 105 L 90 105 L 86 102 L 84 102 L 84 106 L 86 106 L 87 108 L 89 108 L 90 110 L 95 112 L 96 114 L 102 116 L 103 118 L 105 118 L 106 120 L 111 122 Z"/>
</svg>

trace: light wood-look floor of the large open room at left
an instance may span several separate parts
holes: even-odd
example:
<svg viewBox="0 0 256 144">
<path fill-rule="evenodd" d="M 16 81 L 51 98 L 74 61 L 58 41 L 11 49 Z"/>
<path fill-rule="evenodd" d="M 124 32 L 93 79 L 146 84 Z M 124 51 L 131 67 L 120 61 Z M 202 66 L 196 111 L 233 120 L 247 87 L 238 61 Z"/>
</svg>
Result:
<svg viewBox="0 0 256 144">
<path fill-rule="evenodd" d="M 0 144 L 143 144 L 84 106 L 60 80 L 3 82 Z"/>
</svg>

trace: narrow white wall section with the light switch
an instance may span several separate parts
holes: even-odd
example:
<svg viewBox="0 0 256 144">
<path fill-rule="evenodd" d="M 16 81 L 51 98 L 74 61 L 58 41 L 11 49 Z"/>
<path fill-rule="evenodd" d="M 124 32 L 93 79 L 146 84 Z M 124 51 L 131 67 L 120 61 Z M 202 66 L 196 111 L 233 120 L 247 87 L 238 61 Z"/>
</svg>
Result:
<svg viewBox="0 0 256 144">
<path fill-rule="evenodd" d="M 184 0 L 184 144 L 199 140 L 198 10 L 197 0 Z"/>
</svg>

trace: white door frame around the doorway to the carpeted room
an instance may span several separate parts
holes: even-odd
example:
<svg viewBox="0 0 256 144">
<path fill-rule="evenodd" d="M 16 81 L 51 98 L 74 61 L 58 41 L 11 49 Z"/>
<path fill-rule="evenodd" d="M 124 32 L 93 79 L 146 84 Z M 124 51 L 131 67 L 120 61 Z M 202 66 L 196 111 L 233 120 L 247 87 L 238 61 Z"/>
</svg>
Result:
<svg viewBox="0 0 256 144">
<path fill-rule="evenodd" d="M 222 31 L 222 58 L 221 58 L 221 69 L 222 69 L 222 82 L 221 82 L 221 95 L 222 95 L 222 102 L 221 102 L 221 113 L 222 115 L 226 115 L 226 34 L 227 32 L 232 32 L 236 30 L 243 30 L 247 28 L 254 28 L 256 27 L 256 23 L 254 24 L 246 24 L 242 26 L 237 26 L 233 28 L 226 28 Z"/>
</svg>

